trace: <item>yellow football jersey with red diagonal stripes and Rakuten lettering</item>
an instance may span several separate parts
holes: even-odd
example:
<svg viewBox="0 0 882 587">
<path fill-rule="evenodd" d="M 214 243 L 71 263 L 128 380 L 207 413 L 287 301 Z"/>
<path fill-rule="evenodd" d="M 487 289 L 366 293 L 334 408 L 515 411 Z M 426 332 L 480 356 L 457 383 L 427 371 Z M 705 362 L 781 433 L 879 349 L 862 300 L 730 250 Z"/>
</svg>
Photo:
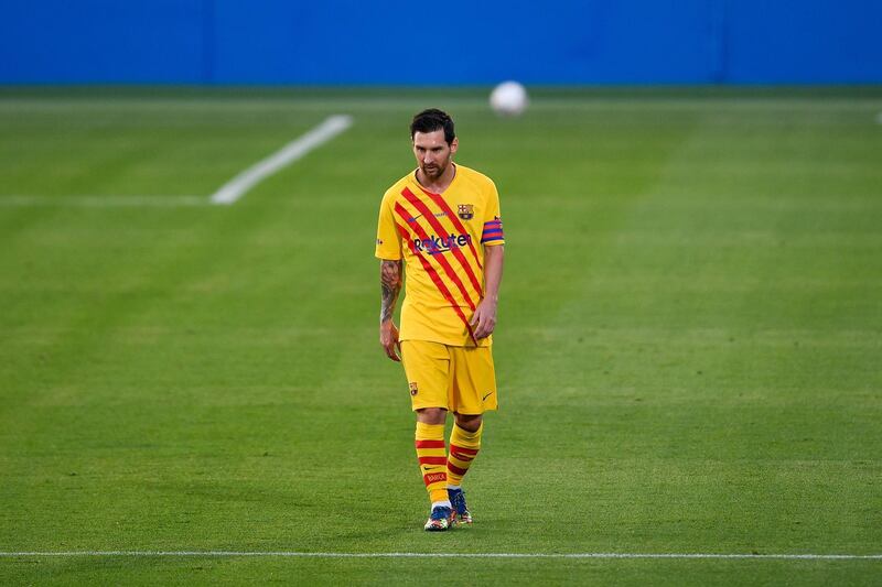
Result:
<svg viewBox="0 0 882 587">
<path fill-rule="evenodd" d="M 490 346 L 469 322 L 484 295 L 484 247 L 504 244 L 499 196 L 490 177 L 456 165 L 443 194 L 401 177 L 383 196 L 376 257 L 404 259 L 401 340 Z"/>
</svg>

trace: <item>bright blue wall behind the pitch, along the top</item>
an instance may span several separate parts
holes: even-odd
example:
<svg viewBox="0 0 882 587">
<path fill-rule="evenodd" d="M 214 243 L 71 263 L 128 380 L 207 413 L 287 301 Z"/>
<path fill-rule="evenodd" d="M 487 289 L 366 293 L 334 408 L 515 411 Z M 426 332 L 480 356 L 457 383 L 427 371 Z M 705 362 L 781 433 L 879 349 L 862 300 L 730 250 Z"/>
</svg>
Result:
<svg viewBox="0 0 882 587">
<path fill-rule="evenodd" d="M 882 0 L 0 0 L 0 84 L 879 84 Z"/>
</svg>

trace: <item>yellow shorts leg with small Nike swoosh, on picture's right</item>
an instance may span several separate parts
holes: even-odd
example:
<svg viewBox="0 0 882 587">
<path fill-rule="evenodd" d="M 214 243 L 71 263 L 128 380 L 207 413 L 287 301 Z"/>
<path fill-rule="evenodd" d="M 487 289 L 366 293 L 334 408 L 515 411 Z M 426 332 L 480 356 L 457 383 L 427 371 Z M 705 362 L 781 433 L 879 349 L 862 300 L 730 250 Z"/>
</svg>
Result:
<svg viewBox="0 0 882 587">
<path fill-rule="evenodd" d="M 496 410 L 496 369 L 491 347 L 451 347 L 451 410 L 483 414 Z"/>
</svg>

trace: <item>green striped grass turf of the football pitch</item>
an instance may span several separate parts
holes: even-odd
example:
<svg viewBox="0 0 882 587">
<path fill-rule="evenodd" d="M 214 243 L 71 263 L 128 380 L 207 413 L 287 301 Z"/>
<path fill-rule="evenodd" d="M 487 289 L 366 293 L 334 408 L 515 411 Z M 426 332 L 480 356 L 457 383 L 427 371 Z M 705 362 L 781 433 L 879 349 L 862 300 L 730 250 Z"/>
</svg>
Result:
<svg viewBox="0 0 882 587">
<path fill-rule="evenodd" d="M 383 191 L 455 117 L 508 240 L 502 410 L 428 513 Z M 0 551 L 882 552 L 882 94 L 0 98 Z M 232 207 L 325 116 L 354 127 Z M 3 198 L 41 196 L 41 205 Z M 0 558 L 2 583 L 871 584 L 881 561 Z"/>
</svg>

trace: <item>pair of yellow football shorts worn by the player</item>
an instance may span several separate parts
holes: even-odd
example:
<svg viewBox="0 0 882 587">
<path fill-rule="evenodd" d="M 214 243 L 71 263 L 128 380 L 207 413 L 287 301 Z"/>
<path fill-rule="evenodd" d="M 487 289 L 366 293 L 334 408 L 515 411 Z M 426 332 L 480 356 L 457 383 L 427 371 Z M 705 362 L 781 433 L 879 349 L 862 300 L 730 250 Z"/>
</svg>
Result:
<svg viewBox="0 0 882 587">
<path fill-rule="evenodd" d="M 496 371 L 491 347 L 402 340 L 401 359 L 413 410 L 443 407 L 470 415 L 496 410 Z"/>
</svg>

